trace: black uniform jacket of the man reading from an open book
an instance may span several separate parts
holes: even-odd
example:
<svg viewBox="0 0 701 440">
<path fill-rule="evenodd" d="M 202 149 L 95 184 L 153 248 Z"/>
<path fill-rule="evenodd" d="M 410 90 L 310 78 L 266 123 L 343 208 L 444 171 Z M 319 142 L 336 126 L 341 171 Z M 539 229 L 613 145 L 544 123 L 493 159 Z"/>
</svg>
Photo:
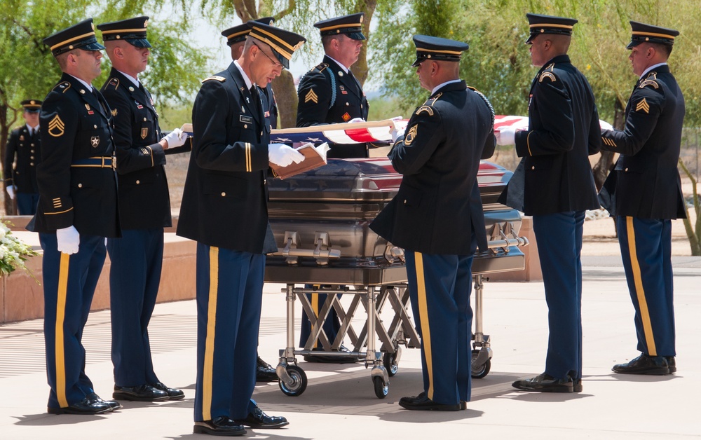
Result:
<svg viewBox="0 0 701 440">
<path fill-rule="evenodd" d="M 263 253 L 270 132 L 262 104 L 233 63 L 203 81 L 192 109 L 193 149 L 177 235 Z"/>
</svg>

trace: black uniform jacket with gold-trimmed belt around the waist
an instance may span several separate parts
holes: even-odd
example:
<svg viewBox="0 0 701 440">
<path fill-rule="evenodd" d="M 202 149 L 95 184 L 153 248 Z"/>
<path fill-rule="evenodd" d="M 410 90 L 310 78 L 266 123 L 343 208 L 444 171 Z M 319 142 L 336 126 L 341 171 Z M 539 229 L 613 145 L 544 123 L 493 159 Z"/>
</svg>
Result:
<svg viewBox="0 0 701 440">
<path fill-rule="evenodd" d="M 120 235 L 111 115 L 93 90 L 63 74 L 41 105 L 39 206 L 29 231 L 74 226 L 81 235 Z"/>
</svg>

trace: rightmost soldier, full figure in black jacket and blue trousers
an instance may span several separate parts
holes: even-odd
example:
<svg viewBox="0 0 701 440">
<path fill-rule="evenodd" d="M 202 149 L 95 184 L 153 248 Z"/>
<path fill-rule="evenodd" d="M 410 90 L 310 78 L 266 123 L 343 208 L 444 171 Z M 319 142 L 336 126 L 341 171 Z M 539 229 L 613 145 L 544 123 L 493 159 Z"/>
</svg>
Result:
<svg viewBox="0 0 701 440">
<path fill-rule="evenodd" d="M 686 218 L 677 169 L 684 97 L 667 64 L 679 32 L 630 25 L 628 58 L 639 79 L 625 108 L 625 128 L 601 130 L 601 149 L 620 157 L 600 200 L 615 216 L 641 355 L 613 371 L 669 374 L 676 372 L 671 219 Z"/>
</svg>

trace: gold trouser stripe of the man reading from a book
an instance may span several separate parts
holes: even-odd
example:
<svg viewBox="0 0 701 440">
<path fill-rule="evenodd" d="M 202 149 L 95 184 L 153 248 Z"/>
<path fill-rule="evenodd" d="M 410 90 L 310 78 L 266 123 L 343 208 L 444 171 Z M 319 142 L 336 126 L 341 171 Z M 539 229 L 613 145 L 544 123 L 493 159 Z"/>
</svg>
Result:
<svg viewBox="0 0 701 440">
<path fill-rule="evenodd" d="M 210 247 L 210 295 L 207 303 L 207 336 L 202 371 L 202 418 L 212 420 L 212 380 L 215 359 L 215 327 L 217 326 L 217 289 L 219 289 L 219 248 Z"/>
</svg>

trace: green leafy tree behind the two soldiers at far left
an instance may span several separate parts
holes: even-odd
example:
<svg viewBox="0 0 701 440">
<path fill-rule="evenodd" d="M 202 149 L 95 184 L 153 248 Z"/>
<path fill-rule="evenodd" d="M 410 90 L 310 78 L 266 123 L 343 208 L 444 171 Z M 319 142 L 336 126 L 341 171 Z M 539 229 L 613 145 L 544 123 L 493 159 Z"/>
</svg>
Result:
<svg viewBox="0 0 701 440">
<path fill-rule="evenodd" d="M 165 4 L 165 0 L 112 0 L 108 4 L 93 0 L 7 0 L 0 9 L 0 157 L 4 157 L 11 127 L 20 119 L 19 102 L 27 97 L 43 99 L 60 78 L 60 69 L 42 42 L 46 36 L 88 17 L 101 23 L 153 15 Z M 168 5 L 179 10 L 187 7 L 184 1 Z M 182 16 L 185 19 L 168 22 L 154 22 L 151 17 L 149 41 L 154 48 L 142 79 L 158 108 L 188 102 L 204 75 L 205 55 L 179 37 L 190 26 L 186 14 Z M 94 81 L 97 87 L 107 79 L 109 69 L 109 59 L 104 57 L 102 76 Z M 5 200 L 5 212 L 13 213 L 9 198 Z"/>
</svg>

